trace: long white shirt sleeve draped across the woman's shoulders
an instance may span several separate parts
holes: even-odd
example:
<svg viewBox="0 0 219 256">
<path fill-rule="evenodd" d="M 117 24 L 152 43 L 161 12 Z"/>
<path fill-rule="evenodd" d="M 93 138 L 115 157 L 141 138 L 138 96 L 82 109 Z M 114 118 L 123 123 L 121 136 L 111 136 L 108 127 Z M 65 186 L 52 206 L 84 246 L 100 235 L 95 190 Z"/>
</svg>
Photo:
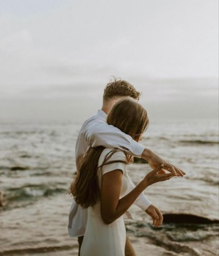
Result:
<svg viewBox="0 0 219 256">
<path fill-rule="evenodd" d="M 113 125 L 108 125 L 99 119 L 88 122 L 84 128 L 84 139 L 92 147 L 119 148 L 127 154 L 141 158 L 145 149 L 143 145 L 123 133 Z"/>
</svg>

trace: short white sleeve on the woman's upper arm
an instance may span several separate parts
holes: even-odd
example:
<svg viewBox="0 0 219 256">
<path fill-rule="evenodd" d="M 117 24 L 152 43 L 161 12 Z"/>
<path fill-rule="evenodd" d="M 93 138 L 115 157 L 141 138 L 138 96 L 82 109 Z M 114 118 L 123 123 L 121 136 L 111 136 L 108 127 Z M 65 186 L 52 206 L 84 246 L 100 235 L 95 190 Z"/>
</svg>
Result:
<svg viewBox="0 0 219 256">
<path fill-rule="evenodd" d="M 111 154 L 111 153 L 109 153 Z M 109 160 L 107 160 L 107 162 L 110 162 L 110 161 L 126 161 L 126 156 L 124 154 L 123 151 L 119 150 L 119 151 L 116 151 L 110 158 Z M 122 173 L 124 174 L 125 171 L 126 171 L 126 164 L 125 163 L 111 163 L 111 164 L 107 164 L 107 165 L 104 165 L 103 168 L 102 168 L 102 175 L 106 174 L 107 172 L 110 172 L 110 171 L 115 171 L 115 170 L 121 170 Z"/>
</svg>

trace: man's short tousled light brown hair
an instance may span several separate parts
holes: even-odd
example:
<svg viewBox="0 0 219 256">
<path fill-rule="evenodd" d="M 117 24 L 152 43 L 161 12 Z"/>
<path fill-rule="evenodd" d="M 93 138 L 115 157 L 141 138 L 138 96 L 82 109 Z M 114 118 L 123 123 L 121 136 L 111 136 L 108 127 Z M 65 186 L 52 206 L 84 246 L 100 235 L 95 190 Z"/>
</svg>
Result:
<svg viewBox="0 0 219 256">
<path fill-rule="evenodd" d="M 114 97 L 124 97 L 129 96 L 133 99 L 139 99 L 140 92 L 137 91 L 133 85 L 129 82 L 121 79 L 114 78 L 113 81 L 110 81 L 104 89 L 105 100 L 114 98 Z"/>
</svg>

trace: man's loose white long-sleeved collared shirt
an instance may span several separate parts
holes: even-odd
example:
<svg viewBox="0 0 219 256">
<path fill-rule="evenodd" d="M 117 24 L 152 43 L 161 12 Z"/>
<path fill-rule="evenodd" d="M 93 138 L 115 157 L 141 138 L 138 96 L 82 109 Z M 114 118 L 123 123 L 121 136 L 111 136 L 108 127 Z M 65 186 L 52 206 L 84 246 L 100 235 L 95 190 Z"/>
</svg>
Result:
<svg viewBox="0 0 219 256">
<path fill-rule="evenodd" d="M 135 140 L 131 136 L 123 133 L 121 130 L 113 125 L 108 125 L 106 123 L 107 114 L 98 110 L 96 116 L 92 116 L 87 119 L 82 125 L 79 131 L 79 136 L 76 142 L 75 149 L 75 159 L 76 168 L 80 160 L 83 158 L 87 148 L 104 146 L 106 148 L 119 148 L 125 150 L 128 154 L 141 157 L 145 147 Z M 135 187 L 134 183 L 130 180 L 130 191 Z M 139 206 L 143 211 L 145 211 L 151 202 L 147 199 L 144 193 L 135 200 L 135 205 Z M 131 218 L 129 214 L 126 217 Z M 71 237 L 79 237 L 85 234 L 85 228 L 87 223 L 87 209 L 82 209 L 74 200 L 71 205 L 69 212 L 69 222 L 68 222 L 68 233 Z"/>
</svg>

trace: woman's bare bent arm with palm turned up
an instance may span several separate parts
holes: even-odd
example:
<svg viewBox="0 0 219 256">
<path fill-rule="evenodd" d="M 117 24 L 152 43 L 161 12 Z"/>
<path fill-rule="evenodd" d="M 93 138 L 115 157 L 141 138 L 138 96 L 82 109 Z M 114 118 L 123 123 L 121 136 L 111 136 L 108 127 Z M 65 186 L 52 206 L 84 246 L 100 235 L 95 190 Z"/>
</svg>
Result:
<svg viewBox="0 0 219 256">
<path fill-rule="evenodd" d="M 121 170 L 114 170 L 104 174 L 101 186 L 101 218 L 106 224 L 110 224 L 121 215 L 123 215 L 129 207 L 134 203 L 137 197 L 151 184 L 169 180 L 173 177 L 172 173 L 158 174 L 162 169 L 160 165 L 155 170 L 148 173 L 138 185 L 132 189 L 126 196 L 119 199 L 122 188 Z"/>
</svg>

